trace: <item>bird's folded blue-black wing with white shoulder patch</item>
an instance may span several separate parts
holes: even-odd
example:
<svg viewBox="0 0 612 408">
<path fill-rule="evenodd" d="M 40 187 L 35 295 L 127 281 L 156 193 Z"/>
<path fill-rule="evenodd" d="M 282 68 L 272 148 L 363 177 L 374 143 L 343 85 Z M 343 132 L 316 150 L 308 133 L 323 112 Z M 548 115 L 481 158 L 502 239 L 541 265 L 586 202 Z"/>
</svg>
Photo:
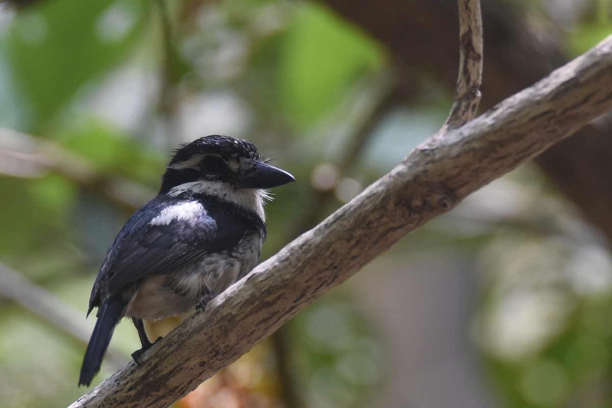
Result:
<svg viewBox="0 0 612 408">
<path fill-rule="evenodd" d="M 231 249 L 244 237 L 247 222 L 200 201 L 155 198 L 125 223 L 106 254 L 91 294 L 116 291 L 145 276 L 177 270 L 207 253 Z"/>
</svg>

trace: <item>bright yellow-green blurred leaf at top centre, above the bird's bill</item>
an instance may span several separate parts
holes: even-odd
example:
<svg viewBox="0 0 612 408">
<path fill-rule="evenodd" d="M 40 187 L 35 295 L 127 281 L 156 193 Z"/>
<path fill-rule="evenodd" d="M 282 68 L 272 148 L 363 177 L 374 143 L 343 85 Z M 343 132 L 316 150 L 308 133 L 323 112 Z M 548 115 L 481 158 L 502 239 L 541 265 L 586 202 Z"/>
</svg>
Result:
<svg viewBox="0 0 612 408">
<path fill-rule="evenodd" d="M 297 124 L 315 121 L 359 75 L 378 69 L 381 47 L 314 3 L 296 12 L 280 51 L 278 98 Z"/>
</svg>

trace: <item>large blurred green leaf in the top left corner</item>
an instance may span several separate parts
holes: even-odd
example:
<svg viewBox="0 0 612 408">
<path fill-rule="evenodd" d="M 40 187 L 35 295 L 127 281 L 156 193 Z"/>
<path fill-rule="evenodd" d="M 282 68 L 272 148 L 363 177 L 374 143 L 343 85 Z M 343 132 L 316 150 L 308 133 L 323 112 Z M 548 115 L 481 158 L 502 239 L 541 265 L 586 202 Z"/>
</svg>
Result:
<svg viewBox="0 0 612 408">
<path fill-rule="evenodd" d="M 40 2 L 18 15 L 7 59 L 40 130 L 86 81 L 108 72 L 147 23 L 147 2 Z"/>
</svg>

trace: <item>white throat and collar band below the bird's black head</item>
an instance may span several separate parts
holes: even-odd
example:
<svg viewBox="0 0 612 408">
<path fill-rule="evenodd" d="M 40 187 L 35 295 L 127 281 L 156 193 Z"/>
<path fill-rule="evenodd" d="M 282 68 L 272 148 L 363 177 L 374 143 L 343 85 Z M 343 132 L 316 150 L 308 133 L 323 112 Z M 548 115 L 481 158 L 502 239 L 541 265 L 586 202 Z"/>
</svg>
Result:
<svg viewBox="0 0 612 408">
<path fill-rule="evenodd" d="M 236 206 L 254 211 L 262 221 L 266 221 L 264 212 L 264 198 L 267 198 L 266 191 L 255 188 L 235 188 L 233 185 L 222 181 L 198 180 L 171 188 L 168 195 L 171 197 L 179 196 L 183 193 L 203 194 L 217 197 L 223 201 L 228 201 Z"/>
</svg>

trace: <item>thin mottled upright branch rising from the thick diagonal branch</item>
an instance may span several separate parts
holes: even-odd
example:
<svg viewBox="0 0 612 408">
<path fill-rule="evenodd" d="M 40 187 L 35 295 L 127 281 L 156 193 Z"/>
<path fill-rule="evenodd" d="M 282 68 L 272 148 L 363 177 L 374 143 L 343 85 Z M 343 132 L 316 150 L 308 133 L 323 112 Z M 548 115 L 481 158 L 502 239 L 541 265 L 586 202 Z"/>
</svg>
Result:
<svg viewBox="0 0 612 408">
<path fill-rule="evenodd" d="M 482 18 L 480 0 L 458 0 L 459 6 L 459 74 L 455 100 L 442 126 L 458 128 L 474 119 L 480 103 L 482 80 Z"/>
</svg>

